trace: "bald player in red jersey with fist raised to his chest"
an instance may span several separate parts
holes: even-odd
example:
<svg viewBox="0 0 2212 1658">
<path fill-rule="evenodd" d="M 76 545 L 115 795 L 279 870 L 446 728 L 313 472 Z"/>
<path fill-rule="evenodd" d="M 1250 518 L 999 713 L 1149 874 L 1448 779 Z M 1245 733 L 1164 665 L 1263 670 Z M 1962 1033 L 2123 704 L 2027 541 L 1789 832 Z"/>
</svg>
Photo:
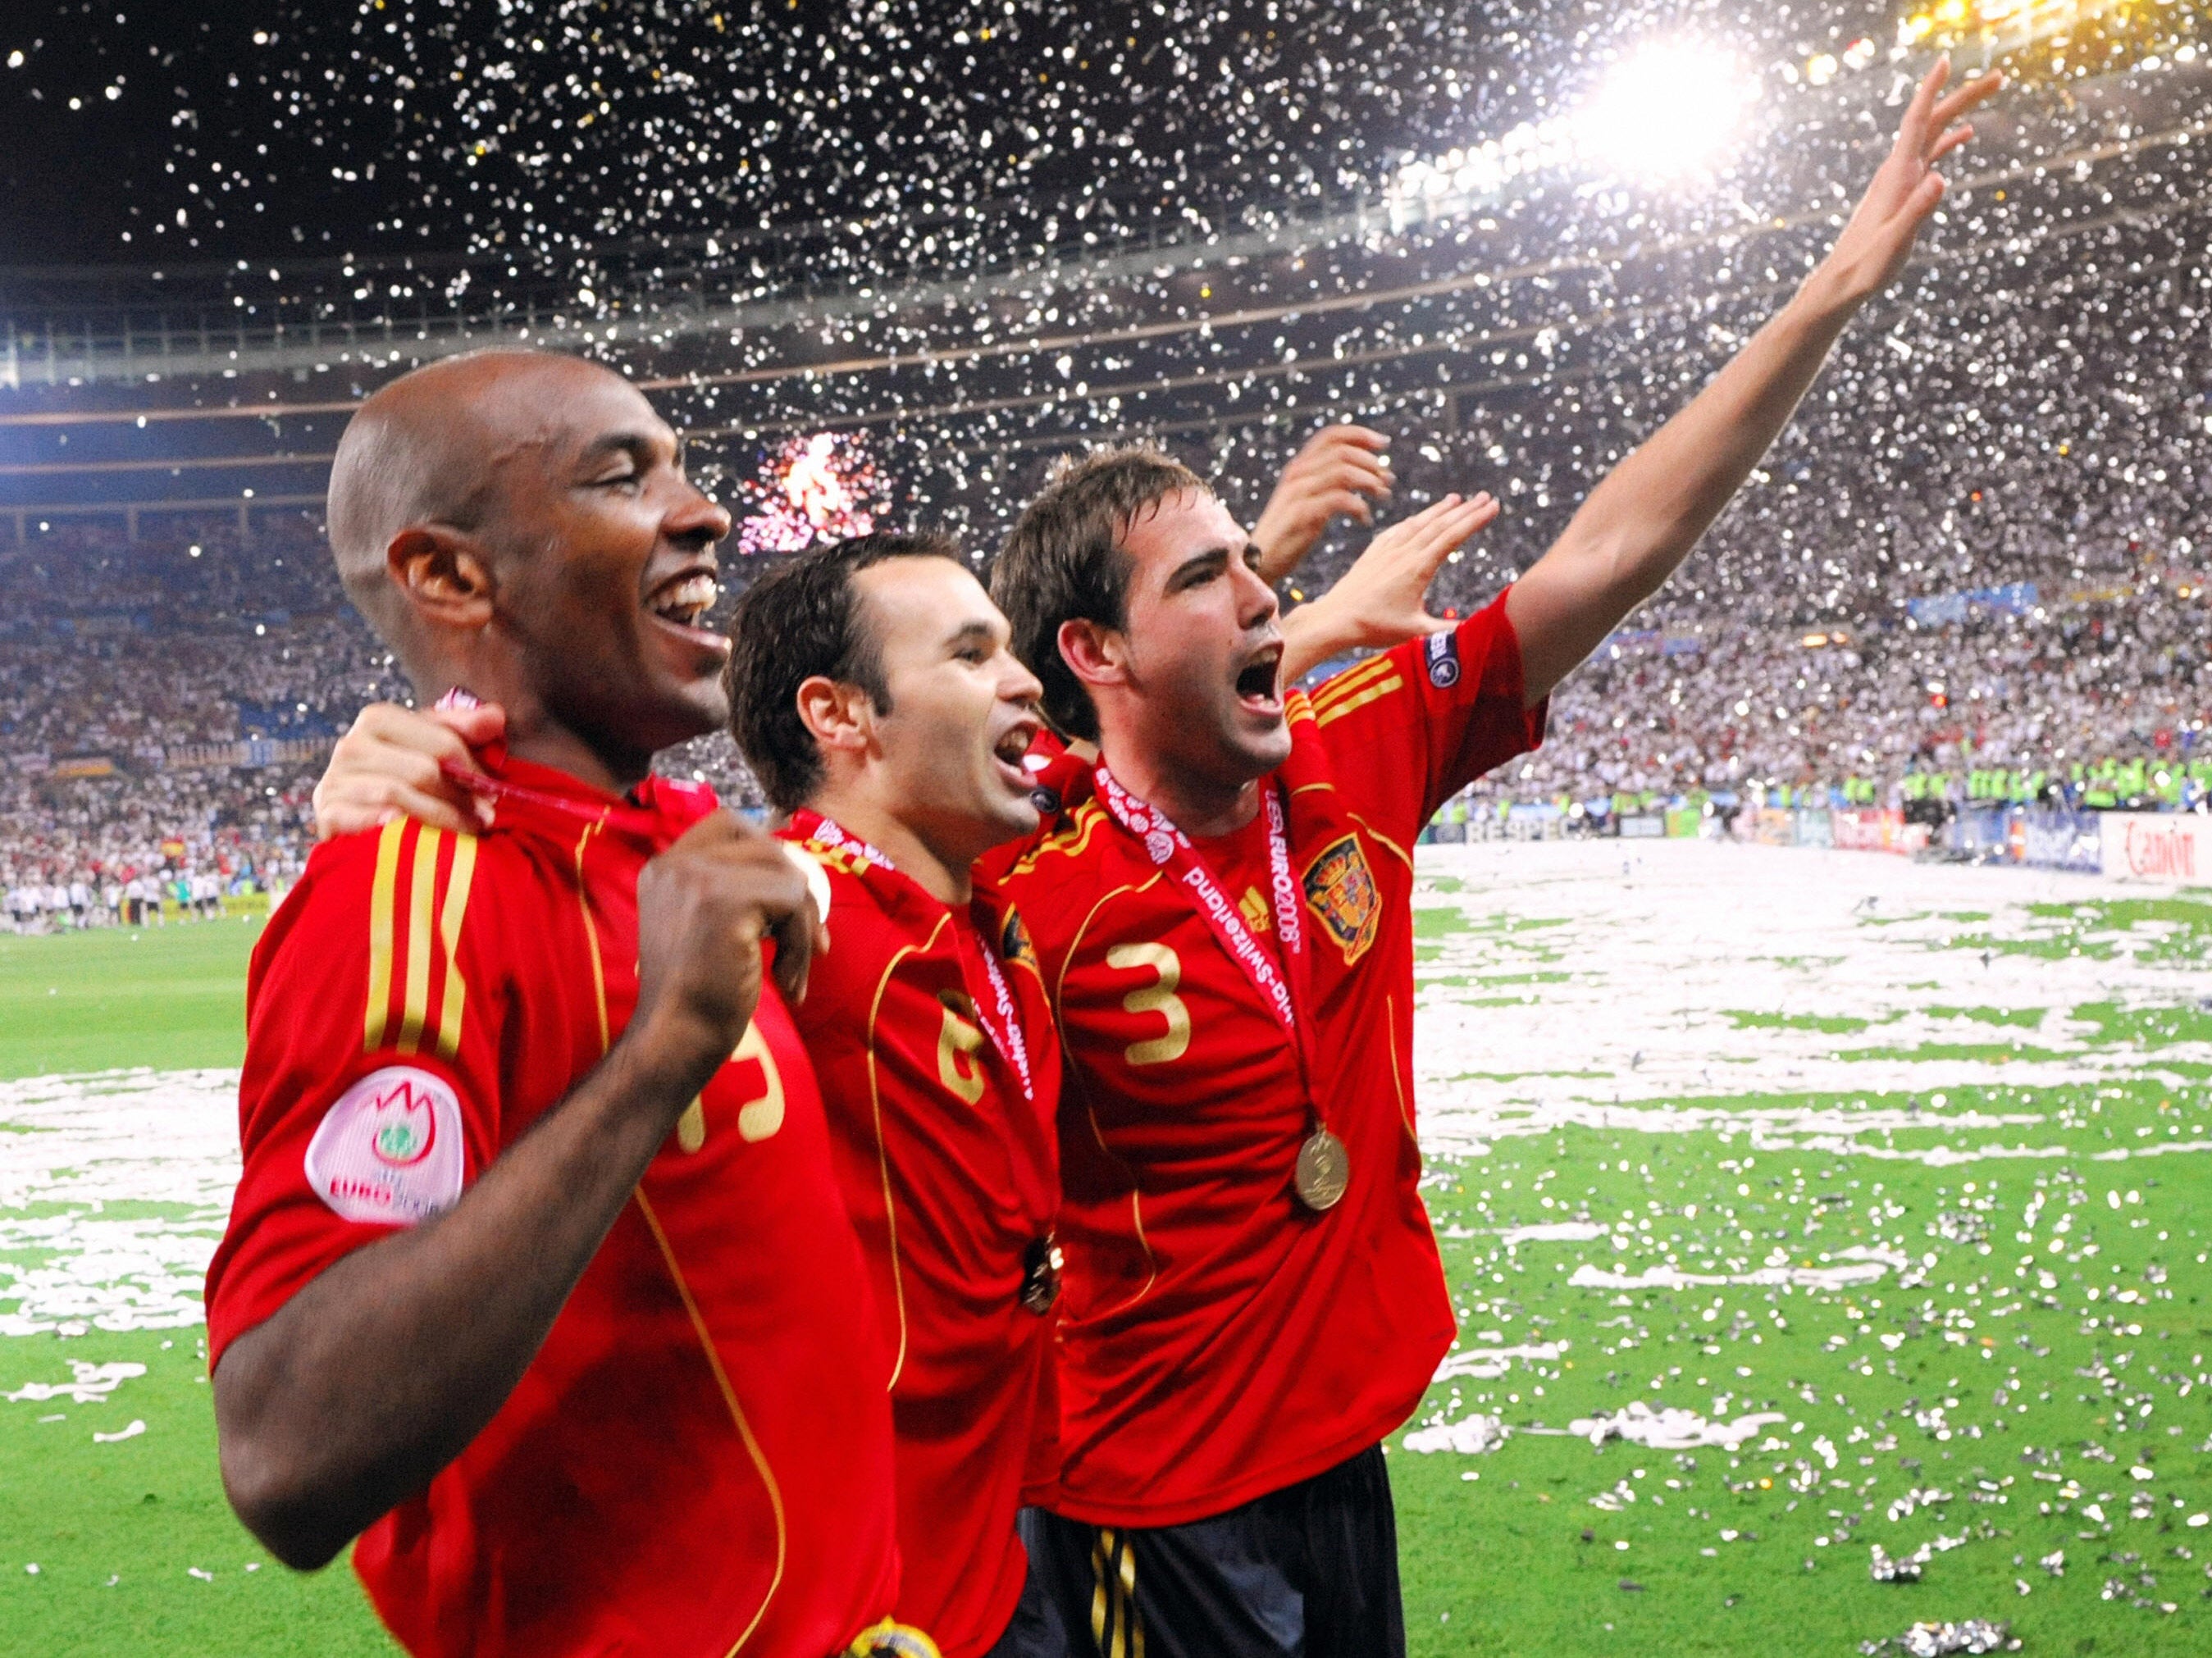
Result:
<svg viewBox="0 0 2212 1658">
<path fill-rule="evenodd" d="M 823 1658 L 894 1603 L 889 1364 L 776 988 L 807 884 L 648 774 L 726 716 L 728 526 L 573 358 L 409 374 L 334 462 L 354 604 L 507 714 L 495 814 L 325 842 L 254 951 L 208 1353 L 239 1517 L 296 1567 L 358 1534 L 414 1654 Z"/>
</svg>

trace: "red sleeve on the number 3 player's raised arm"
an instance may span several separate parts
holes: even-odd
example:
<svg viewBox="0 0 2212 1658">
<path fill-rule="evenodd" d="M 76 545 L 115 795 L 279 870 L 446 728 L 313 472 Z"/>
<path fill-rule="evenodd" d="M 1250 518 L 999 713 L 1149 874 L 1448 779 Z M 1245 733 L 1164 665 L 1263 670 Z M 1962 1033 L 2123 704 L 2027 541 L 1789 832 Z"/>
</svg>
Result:
<svg viewBox="0 0 2212 1658">
<path fill-rule="evenodd" d="M 1522 696 L 1520 639 L 1498 595 L 1451 632 L 1347 668 L 1290 714 L 1314 721 L 1345 805 L 1409 847 L 1444 800 L 1544 741 L 1551 703 Z"/>
</svg>

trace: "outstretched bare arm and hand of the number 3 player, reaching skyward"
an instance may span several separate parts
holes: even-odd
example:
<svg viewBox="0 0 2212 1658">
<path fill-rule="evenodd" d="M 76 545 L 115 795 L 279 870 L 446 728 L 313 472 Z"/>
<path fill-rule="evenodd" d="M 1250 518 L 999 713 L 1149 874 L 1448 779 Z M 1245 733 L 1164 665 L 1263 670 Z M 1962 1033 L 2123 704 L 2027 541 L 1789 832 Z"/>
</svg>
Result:
<svg viewBox="0 0 2212 1658">
<path fill-rule="evenodd" d="M 1557 544 L 1513 584 L 1506 617 L 1520 634 L 1531 707 L 1681 566 L 1790 424 L 1836 336 L 1905 267 L 1942 201 L 1936 164 L 1973 137 L 1958 119 L 2002 84 L 1982 75 L 1944 95 L 1949 77 L 1944 57 L 1920 82 L 1896 148 L 1796 296 L 1590 491 Z"/>
</svg>

